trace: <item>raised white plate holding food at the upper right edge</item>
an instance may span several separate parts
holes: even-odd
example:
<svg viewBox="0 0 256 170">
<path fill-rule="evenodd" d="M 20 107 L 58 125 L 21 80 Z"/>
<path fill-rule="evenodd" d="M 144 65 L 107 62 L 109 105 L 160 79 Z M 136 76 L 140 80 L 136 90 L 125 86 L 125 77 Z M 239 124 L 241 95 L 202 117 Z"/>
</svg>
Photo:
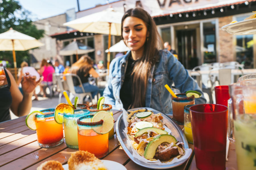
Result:
<svg viewBox="0 0 256 170">
<path fill-rule="evenodd" d="M 221 29 L 234 35 L 256 34 L 256 18 L 224 25 Z"/>
</svg>

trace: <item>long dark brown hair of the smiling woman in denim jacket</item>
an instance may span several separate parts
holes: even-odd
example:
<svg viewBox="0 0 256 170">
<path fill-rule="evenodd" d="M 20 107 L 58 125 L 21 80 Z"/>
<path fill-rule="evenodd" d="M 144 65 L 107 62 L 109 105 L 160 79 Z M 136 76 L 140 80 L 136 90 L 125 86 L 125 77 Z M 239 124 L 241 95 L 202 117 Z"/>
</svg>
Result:
<svg viewBox="0 0 256 170">
<path fill-rule="evenodd" d="M 157 31 L 156 24 L 151 16 L 142 8 L 133 8 L 125 12 L 121 22 L 121 38 L 123 39 L 123 21 L 125 18 L 137 17 L 145 23 L 149 37 L 144 44 L 144 53 L 141 59 L 136 61 L 133 68 L 132 103 L 129 109 L 145 107 L 148 76 L 154 64 L 158 60 L 158 50 L 162 48 L 163 41 Z M 153 75 L 152 75 L 153 76 Z"/>
</svg>

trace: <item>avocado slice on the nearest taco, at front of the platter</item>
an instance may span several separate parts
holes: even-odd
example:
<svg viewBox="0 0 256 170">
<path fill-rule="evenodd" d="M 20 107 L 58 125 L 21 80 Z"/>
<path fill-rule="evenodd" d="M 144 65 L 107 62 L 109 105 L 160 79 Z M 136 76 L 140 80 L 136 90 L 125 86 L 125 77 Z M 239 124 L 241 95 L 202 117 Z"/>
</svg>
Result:
<svg viewBox="0 0 256 170">
<path fill-rule="evenodd" d="M 174 136 L 169 135 L 169 134 L 163 134 L 158 137 L 156 137 L 153 141 L 150 141 L 148 145 L 146 146 L 145 152 L 144 152 L 144 157 L 146 159 L 153 159 L 155 154 L 156 154 L 156 148 L 161 144 L 161 143 L 176 143 L 177 140 Z"/>
</svg>

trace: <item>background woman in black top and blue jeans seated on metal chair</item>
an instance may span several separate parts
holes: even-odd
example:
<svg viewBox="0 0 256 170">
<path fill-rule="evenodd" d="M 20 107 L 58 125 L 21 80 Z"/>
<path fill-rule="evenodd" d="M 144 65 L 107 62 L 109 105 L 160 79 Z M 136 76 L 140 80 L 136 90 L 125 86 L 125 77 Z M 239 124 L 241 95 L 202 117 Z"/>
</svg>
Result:
<svg viewBox="0 0 256 170">
<path fill-rule="evenodd" d="M 85 55 L 82 56 L 77 62 L 71 65 L 71 73 L 79 76 L 82 82 L 82 86 L 85 92 L 91 92 L 92 97 L 98 93 L 99 88 L 89 83 L 88 78 L 90 75 L 97 78 L 99 75 L 93 68 L 92 59 Z M 73 82 L 75 86 L 76 93 L 82 93 L 82 88 L 80 87 L 79 80 L 73 77 Z"/>
</svg>

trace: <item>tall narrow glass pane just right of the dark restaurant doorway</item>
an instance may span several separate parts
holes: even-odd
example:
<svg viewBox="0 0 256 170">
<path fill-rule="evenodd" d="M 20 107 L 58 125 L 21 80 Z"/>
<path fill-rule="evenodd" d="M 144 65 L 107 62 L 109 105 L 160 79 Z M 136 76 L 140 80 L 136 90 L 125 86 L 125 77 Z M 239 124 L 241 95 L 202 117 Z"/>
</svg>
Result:
<svg viewBox="0 0 256 170">
<path fill-rule="evenodd" d="M 204 63 L 216 62 L 215 21 L 203 23 Z"/>
</svg>

